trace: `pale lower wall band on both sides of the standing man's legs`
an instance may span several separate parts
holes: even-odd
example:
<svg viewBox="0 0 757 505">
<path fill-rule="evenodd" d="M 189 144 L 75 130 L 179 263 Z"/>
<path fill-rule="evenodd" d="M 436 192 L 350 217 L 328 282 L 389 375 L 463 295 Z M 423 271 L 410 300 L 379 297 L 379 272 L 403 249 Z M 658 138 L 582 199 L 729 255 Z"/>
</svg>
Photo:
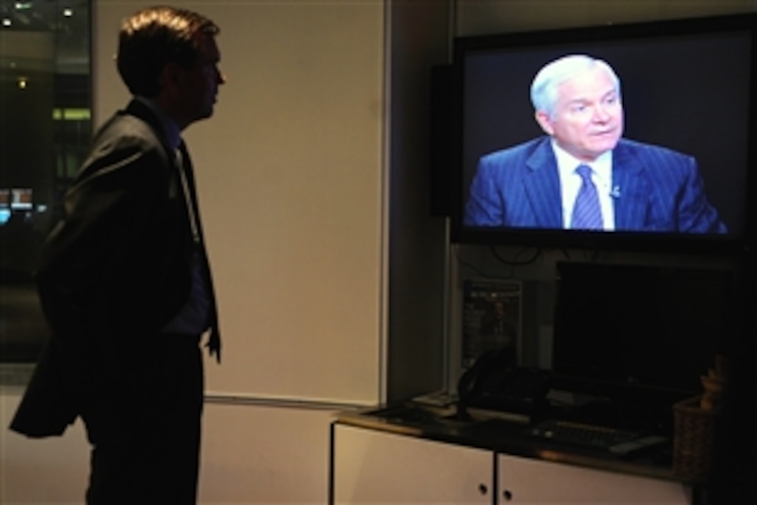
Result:
<svg viewBox="0 0 757 505">
<path fill-rule="evenodd" d="M 0 426 L 21 387 L 0 388 Z M 326 503 L 329 423 L 335 412 L 206 403 L 199 503 Z M 0 503 L 83 503 L 89 444 L 81 422 L 63 437 L 30 440 L 0 430 Z"/>
</svg>

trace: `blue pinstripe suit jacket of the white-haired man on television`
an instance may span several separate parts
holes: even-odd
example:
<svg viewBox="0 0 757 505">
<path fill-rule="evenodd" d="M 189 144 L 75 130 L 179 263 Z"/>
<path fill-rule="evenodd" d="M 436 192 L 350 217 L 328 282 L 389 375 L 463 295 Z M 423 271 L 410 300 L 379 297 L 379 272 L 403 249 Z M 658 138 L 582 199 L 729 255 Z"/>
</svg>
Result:
<svg viewBox="0 0 757 505">
<path fill-rule="evenodd" d="M 613 151 L 616 231 L 725 233 L 691 156 L 621 139 Z M 485 155 L 471 185 L 468 226 L 562 228 L 562 197 L 550 138 Z"/>
</svg>

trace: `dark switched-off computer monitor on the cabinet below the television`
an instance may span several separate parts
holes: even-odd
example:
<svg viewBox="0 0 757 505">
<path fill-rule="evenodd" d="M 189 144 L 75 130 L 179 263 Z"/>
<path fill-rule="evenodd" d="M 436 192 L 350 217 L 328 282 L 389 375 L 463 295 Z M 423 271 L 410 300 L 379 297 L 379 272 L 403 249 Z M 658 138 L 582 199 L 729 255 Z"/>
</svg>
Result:
<svg viewBox="0 0 757 505">
<path fill-rule="evenodd" d="M 556 384 L 594 394 L 702 393 L 727 356 L 731 271 L 668 266 L 556 265 Z"/>
</svg>

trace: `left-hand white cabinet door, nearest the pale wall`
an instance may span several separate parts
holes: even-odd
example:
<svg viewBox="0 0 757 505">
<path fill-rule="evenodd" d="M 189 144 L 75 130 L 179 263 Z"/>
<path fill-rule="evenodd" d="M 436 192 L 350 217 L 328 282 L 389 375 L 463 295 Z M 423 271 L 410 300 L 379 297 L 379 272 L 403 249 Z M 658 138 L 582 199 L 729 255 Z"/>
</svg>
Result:
<svg viewBox="0 0 757 505">
<path fill-rule="evenodd" d="M 494 454 L 337 424 L 333 503 L 493 503 Z"/>
</svg>

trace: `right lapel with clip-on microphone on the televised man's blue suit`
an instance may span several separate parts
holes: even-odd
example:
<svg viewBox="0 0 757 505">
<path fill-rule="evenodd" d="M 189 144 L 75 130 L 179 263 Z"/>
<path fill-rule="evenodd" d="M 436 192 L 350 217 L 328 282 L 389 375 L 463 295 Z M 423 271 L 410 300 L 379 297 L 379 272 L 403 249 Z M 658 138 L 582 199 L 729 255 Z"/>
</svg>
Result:
<svg viewBox="0 0 757 505">
<path fill-rule="evenodd" d="M 615 193 L 615 229 L 643 230 L 650 201 L 650 184 L 644 168 L 621 140 L 612 153 L 612 187 Z"/>
</svg>

